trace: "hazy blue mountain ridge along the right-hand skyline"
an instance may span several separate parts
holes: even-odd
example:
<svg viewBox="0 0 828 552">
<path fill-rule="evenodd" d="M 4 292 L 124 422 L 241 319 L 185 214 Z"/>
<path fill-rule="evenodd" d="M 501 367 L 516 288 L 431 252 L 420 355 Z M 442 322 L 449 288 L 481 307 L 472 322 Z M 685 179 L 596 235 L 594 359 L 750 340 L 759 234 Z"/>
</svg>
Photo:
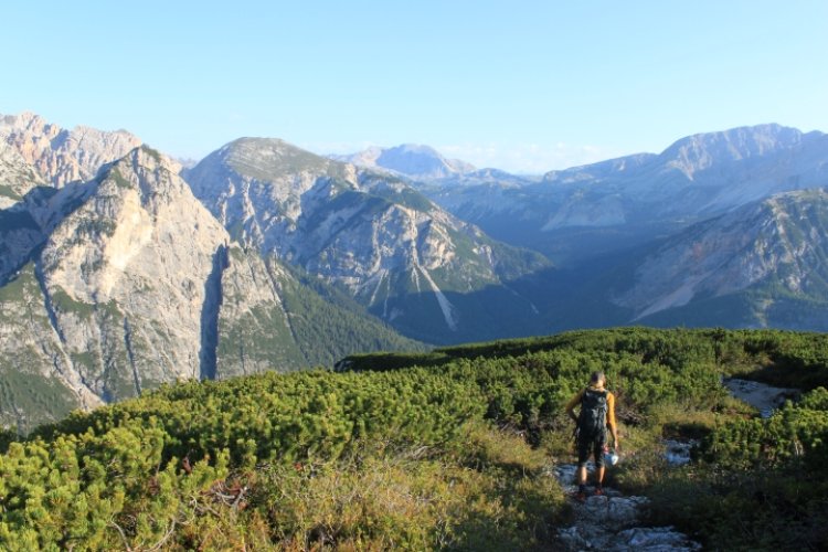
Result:
<svg viewBox="0 0 828 552">
<path fill-rule="evenodd" d="M 578 258 L 826 179 L 828 135 L 760 125 L 683 138 L 660 155 L 552 171 L 537 184 L 489 182 L 428 194 L 497 238 Z"/>
</svg>

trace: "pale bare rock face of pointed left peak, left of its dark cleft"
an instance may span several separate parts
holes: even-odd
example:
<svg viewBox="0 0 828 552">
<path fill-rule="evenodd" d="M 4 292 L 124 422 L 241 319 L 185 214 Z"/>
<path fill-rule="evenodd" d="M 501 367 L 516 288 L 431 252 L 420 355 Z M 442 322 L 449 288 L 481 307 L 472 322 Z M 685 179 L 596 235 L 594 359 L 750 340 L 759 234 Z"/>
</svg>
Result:
<svg viewBox="0 0 828 552">
<path fill-rule="evenodd" d="M 227 242 L 152 150 L 136 149 L 102 172 L 51 232 L 39 263 L 65 347 L 85 355 L 76 364 L 97 394 L 200 375 L 204 283 Z M 109 354 L 131 373 L 107 371 Z"/>
</svg>

